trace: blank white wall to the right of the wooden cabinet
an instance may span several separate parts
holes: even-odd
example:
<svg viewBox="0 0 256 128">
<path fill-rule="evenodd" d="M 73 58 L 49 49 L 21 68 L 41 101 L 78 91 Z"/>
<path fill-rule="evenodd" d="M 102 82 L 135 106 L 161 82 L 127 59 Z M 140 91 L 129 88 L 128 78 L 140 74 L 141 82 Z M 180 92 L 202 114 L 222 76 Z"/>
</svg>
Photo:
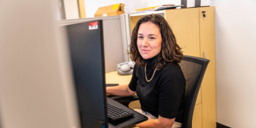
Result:
<svg viewBox="0 0 256 128">
<path fill-rule="evenodd" d="M 217 122 L 256 127 L 256 1 L 214 0 Z"/>
</svg>

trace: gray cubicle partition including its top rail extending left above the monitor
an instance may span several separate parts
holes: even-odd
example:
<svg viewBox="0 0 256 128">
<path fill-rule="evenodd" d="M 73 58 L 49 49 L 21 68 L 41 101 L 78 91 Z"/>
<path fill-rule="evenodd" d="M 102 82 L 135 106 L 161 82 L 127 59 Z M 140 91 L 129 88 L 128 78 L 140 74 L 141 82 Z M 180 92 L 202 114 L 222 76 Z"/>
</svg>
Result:
<svg viewBox="0 0 256 128">
<path fill-rule="evenodd" d="M 59 20 L 58 26 L 67 26 L 75 23 L 86 21 L 102 20 L 103 21 L 103 38 L 104 38 L 104 53 L 105 53 L 105 70 L 106 73 L 115 71 L 117 64 L 127 61 L 128 57 L 125 54 L 127 44 L 123 44 L 123 32 L 121 30 L 122 23 L 120 16 L 113 17 L 97 17 L 84 18 L 74 20 Z M 126 45 L 126 46 L 124 46 Z"/>
</svg>

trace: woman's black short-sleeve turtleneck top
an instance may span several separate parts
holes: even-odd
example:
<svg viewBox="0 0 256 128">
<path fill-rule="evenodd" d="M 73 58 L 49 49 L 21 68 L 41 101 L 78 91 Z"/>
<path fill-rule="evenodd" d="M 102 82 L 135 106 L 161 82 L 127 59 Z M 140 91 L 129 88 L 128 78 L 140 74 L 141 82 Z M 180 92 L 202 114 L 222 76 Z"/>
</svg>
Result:
<svg viewBox="0 0 256 128">
<path fill-rule="evenodd" d="M 147 59 L 146 74 L 151 79 L 154 68 Z M 145 67 L 134 66 L 129 88 L 136 91 L 141 109 L 158 117 L 175 118 L 175 122 L 182 123 L 183 102 L 186 81 L 179 64 L 165 65 L 163 69 L 156 70 L 153 79 L 146 81 Z"/>
</svg>

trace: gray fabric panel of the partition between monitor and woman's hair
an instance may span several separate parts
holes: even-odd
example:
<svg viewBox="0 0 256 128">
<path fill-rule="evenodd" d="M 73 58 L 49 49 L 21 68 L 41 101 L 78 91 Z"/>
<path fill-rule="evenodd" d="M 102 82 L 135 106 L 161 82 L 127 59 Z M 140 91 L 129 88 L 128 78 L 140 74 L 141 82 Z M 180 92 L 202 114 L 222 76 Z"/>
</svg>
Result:
<svg viewBox="0 0 256 128">
<path fill-rule="evenodd" d="M 105 71 L 115 71 L 124 62 L 120 19 L 103 20 Z"/>
</svg>

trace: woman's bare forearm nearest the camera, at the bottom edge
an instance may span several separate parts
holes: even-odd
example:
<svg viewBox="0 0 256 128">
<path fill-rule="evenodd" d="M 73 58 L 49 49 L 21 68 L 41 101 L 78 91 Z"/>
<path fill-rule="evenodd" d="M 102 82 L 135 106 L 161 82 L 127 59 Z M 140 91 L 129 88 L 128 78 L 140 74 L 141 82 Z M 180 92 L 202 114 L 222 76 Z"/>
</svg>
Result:
<svg viewBox="0 0 256 128">
<path fill-rule="evenodd" d="M 164 118 L 162 116 L 158 116 L 158 119 L 148 119 L 148 121 L 137 124 L 136 126 L 140 128 L 150 128 L 150 127 L 159 127 L 159 128 L 171 128 L 175 118 Z"/>
</svg>

